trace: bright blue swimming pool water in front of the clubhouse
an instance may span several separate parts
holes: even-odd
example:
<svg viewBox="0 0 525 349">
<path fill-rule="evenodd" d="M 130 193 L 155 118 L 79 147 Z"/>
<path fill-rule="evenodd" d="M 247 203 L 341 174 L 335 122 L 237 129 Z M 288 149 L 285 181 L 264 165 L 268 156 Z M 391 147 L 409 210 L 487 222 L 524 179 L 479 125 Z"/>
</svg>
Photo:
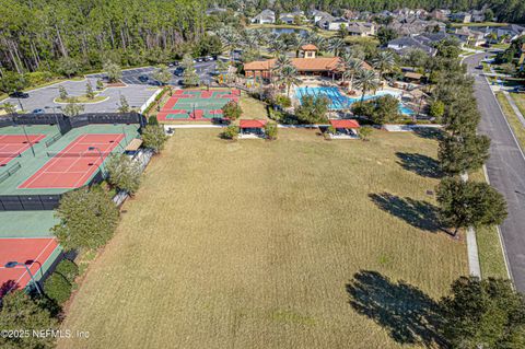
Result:
<svg viewBox="0 0 525 349">
<path fill-rule="evenodd" d="M 355 103 L 360 102 L 361 97 L 348 97 L 341 94 L 338 88 L 296 88 L 295 89 L 295 96 L 298 97 L 299 101 L 302 101 L 304 96 L 306 95 L 312 95 L 312 96 L 325 96 L 328 97 L 328 100 L 331 101 L 329 108 L 332 110 L 338 110 L 338 109 L 348 109 L 350 106 Z M 370 101 L 374 100 L 384 95 L 393 95 L 395 97 L 399 96 L 399 93 L 395 93 L 393 91 L 377 91 L 376 94 L 368 94 L 364 95 L 364 101 Z M 399 103 L 399 113 L 402 115 L 413 115 L 416 114 L 412 109 L 404 105 L 402 103 Z"/>
</svg>

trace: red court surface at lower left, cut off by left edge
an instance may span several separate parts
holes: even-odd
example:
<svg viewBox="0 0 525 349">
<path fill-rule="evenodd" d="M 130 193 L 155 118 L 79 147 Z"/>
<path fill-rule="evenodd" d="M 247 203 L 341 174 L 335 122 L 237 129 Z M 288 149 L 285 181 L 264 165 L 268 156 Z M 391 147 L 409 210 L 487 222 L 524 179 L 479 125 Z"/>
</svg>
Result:
<svg viewBox="0 0 525 349">
<path fill-rule="evenodd" d="M 5 268 L 8 261 L 26 264 L 37 279 L 42 277 L 42 266 L 46 263 L 58 243 L 52 237 L 45 239 L 1 239 L 0 240 L 0 296 L 13 289 L 23 289 L 31 277 L 24 266 Z"/>
</svg>

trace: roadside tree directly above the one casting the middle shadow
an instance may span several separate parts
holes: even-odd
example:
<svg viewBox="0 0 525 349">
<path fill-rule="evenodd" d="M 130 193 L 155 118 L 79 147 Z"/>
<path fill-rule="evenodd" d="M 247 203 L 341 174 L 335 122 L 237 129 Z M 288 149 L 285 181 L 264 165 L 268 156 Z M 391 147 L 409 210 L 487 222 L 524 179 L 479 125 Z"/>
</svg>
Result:
<svg viewBox="0 0 525 349">
<path fill-rule="evenodd" d="M 440 141 L 438 158 L 441 168 L 450 175 L 460 175 L 481 168 L 489 159 L 490 138 L 469 133 L 464 137 L 446 135 Z"/>
</svg>

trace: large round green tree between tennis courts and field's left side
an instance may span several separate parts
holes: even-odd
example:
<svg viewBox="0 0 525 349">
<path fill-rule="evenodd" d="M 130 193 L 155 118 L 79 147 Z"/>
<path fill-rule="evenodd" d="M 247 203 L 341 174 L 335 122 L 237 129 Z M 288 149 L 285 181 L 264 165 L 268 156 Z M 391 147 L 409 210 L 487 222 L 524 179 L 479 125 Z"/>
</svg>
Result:
<svg viewBox="0 0 525 349">
<path fill-rule="evenodd" d="M 115 233 L 119 217 L 101 186 L 66 193 L 55 214 L 59 223 L 51 231 L 66 249 L 104 246 Z"/>
</svg>

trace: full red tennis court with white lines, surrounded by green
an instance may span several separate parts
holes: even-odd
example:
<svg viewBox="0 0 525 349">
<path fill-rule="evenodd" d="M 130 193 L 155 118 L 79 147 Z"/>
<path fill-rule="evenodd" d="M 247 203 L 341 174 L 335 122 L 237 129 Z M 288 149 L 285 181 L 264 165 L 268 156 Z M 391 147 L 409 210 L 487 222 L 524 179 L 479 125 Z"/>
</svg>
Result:
<svg viewBox="0 0 525 349">
<path fill-rule="evenodd" d="M 79 136 L 19 188 L 79 188 L 93 176 L 102 159 L 107 158 L 122 139 L 124 135 L 117 133 Z M 96 149 L 89 150 L 91 147 Z"/>
</svg>

